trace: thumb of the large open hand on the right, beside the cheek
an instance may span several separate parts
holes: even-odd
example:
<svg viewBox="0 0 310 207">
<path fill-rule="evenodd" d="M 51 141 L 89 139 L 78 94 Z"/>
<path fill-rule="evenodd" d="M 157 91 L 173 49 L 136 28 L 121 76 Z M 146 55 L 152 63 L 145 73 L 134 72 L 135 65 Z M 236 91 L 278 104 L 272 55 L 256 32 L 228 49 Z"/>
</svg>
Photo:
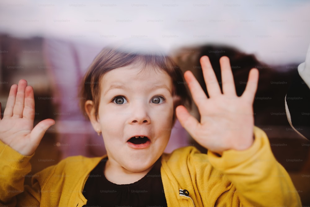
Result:
<svg viewBox="0 0 310 207">
<path fill-rule="evenodd" d="M 196 137 L 195 130 L 199 126 L 199 122 L 197 121 L 197 119 L 193 117 L 192 115 L 190 115 L 188 113 L 188 110 L 182 105 L 176 107 L 175 114 L 177 118 L 179 119 L 181 125 L 186 129 L 186 131 L 192 137 Z"/>
</svg>

